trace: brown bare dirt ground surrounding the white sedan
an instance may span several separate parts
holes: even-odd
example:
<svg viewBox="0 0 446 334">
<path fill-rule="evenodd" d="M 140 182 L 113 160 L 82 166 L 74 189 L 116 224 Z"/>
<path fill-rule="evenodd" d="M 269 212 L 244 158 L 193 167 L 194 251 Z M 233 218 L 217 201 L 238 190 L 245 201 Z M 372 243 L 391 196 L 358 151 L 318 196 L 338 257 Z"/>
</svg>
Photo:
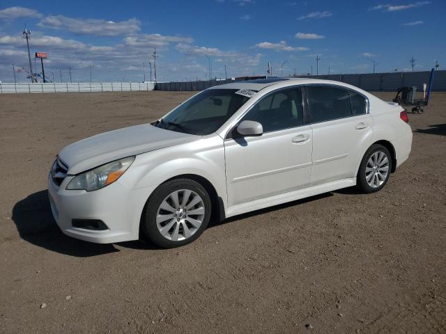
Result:
<svg viewBox="0 0 446 334">
<path fill-rule="evenodd" d="M 236 216 L 171 250 L 62 234 L 55 154 L 188 96 L 0 95 L 1 333 L 446 333 L 446 93 L 409 115 L 412 154 L 379 193 Z"/>
</svg>

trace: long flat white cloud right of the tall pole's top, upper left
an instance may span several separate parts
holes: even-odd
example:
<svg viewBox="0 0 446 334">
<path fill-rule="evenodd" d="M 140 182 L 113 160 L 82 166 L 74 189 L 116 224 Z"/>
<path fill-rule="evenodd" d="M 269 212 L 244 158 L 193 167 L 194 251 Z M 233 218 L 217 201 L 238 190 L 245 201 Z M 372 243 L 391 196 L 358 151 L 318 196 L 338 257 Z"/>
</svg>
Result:
<svg viewBox="0 0 446 334">
<path fill-rule="evenodd" d="M 52 29 L 66 29 L 72 33 L 82 35 L 116 36 L 129 35 L 140 30 L 141 22 L 138 19 L 128 19 L 121 22 L 107 21 L 106 19 L 75 19 L 63 15 L 47 16 L 38 26 Z"/>
</svg>

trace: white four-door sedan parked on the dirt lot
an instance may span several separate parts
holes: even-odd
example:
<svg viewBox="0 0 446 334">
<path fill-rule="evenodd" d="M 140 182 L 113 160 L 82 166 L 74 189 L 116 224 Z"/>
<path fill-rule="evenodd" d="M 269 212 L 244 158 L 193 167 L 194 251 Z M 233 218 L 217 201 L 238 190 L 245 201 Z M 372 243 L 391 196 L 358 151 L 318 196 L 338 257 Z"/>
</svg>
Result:
<svg viewBox="0 0 446 334">
<path fill-rule="evenodd" d="M 211 217 L 357 186 L 378 191 L 410 154 L 406 111 L 317 79 L 215 86 L 151 124 L 86 138 L 48 177 L 61 230 L 97 243 L 188 244 Z"/>
</svg>

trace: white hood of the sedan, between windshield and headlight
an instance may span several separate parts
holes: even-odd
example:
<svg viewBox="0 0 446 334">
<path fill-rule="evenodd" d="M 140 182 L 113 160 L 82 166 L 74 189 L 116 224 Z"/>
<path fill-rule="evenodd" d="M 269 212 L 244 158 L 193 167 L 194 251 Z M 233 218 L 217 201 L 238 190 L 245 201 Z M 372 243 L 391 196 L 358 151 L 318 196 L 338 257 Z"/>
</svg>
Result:
<svg viewBox="0 0 446 334">
<path fill-rule="evenodd" d="M 160 129 L 151 124 L 135 125 L 72 143 L 59 152 L 59 159 L 68 166 L 68 174 L 75 175 L 116 159 L 190 143 L 199 138 L 201 136 Z"/>
</svg>

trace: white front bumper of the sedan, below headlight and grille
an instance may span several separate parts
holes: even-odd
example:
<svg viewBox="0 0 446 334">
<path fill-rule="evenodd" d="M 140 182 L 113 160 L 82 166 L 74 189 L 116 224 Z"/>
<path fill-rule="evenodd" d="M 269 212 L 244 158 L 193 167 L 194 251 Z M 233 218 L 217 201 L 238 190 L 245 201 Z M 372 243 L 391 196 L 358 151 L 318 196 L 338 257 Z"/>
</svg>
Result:
<svg viewBox="0 0 446 334">
<path fill-rule="evenodd" d="M 114 182 L 96 191 L 66 190 L 72 177 L 57 186 L 48 175 L 48 195 L 52 213 L 64 234 L 84 241 L 109 244 L 139 238 L 141 212 L 148 189 L 128 189 Z M 87 230 L 72 226 L 72 219 L 98 219 L 107 230 Z"/>
</svg>

